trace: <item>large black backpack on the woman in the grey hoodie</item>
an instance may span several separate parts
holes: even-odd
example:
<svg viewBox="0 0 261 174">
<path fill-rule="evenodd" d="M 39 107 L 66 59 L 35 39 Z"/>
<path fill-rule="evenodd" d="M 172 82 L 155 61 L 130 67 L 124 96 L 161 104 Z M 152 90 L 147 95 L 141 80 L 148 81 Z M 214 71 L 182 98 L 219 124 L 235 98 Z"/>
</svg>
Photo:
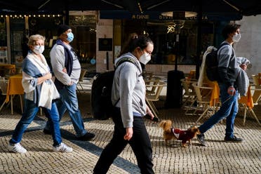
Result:
<svg viewBox="0 0 261 174">
<path fill-rule="evenodd" d="M 123 62 L 131 62 L 138 66 L 131 58 L 122 58 L 117 62 L 117 67 Z M 112 83 L 114 80 L 114 71 L 103 72 L 93 77 L 93 85 L 91 87 L 91 108 L 93 118 L 98 120 L 106 120 L 114 113 L 114 106 L 112 104 Z"/>
</svg>

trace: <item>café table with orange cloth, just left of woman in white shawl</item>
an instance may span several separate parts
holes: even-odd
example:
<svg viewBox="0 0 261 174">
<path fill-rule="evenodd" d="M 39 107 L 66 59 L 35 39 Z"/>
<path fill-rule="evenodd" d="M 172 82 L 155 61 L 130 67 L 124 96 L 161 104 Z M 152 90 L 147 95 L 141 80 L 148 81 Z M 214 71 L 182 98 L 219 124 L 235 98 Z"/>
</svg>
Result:
<svg viewBox="0 0 261 174">
<path fill-rule="evenodd" d="M 13 97 L 19 95 L 21 111 L 23 112 L 22 107 L 22 96 L 24 94 L 24 88 L 22 88 L 22 74 L 15 74 L 9 76 L 7 93 L 6 93 L 6 102 L 9 102 L 11 98 L 11 114 L 13 114 Z"/>
</svg>

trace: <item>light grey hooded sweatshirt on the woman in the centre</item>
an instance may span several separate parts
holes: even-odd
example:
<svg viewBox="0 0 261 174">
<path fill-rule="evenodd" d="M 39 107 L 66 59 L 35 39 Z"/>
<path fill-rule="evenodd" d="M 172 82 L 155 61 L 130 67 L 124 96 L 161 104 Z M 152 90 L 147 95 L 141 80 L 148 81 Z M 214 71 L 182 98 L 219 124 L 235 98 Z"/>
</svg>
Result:
<svg viewBox="0 0 261 174">
<path fill-rule="evenodd" d="M 121 109 L 121 119 L 124 128 L 133 127 L 133 115 L 145 116 L 147 105 L 145 102 L 146 86 L 142 77 L 142 67 L 137 58 L 131 53 L 121 55 L 115 60 L 116 63 L 121 58 L 131 58 L 132 62 L 123 62 L 116 68 L 114 81 L 112 84 L 112 103 Z"/>
</svg>

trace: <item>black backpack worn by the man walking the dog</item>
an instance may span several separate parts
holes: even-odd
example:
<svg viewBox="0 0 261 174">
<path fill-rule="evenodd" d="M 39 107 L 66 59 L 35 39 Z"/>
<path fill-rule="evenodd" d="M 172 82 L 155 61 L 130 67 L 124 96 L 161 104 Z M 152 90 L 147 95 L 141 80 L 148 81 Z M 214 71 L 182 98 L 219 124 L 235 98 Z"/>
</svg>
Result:
<svg viewBox="0 0 261 174">
<path fill-rule="evenodd" d="M 210 81 L 220 81 L 220 76 L 218 74 L 217 51 L 225 45 L 229 44 L 225 42 L 221 44 L 218 49 L 214 47 L 212 51 L 206 55 L 206 75 Z"/>
</svg>

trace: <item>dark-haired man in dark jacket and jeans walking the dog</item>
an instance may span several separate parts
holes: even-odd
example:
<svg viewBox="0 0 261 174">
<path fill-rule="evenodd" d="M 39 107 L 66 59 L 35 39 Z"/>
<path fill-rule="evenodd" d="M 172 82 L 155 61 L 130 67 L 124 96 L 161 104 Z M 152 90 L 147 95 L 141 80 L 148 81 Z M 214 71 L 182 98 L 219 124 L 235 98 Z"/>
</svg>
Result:
<svg viewBox="0 0 261 174">
<path fill-rule="evenodd" d="M 238 91 L 235 83 L 237 76 L 236 54 L 234 53 L 232 44 L 234 44 L 234 42 L 238 42 L 241 38 L 239 27 L 240 25 L 229 24 L 222 30 L 222 36 L 225 38 L 223 43 L 227 42 L 227 44 L 222 46 L 217 52 L 218 74 L 220 76 L 220 81 L 217 82 L 220 87 L 220 100 L 222 102 L 222 106 L 205 123 L 199 126 L 199 131 L 201 134 L 197 135 L 197 139 L 203 146 L 206 146 L 203 133 L 225 118 L 227 119 L 225 141 L 243 141 L 241 138 L 236 138 L 234 135 L 234 120 L 239 110 L 239 104 Z"/>
</svg>

